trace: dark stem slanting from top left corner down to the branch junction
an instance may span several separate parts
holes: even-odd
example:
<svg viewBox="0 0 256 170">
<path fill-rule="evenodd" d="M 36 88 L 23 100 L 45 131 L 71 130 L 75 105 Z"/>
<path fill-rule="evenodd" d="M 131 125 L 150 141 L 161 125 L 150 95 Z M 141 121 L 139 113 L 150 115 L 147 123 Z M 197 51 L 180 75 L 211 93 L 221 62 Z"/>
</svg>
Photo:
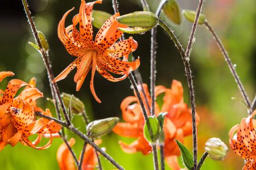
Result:
<svg viewBox="0 0 256 170">
<path fill-rule="evenodd" d="M 69 120 L 69 117 L 68 117 L 68 114 L 67 114 L 67 111 L 65 109 L 63 100 L 61 99 L 59 88 L 57 87 L 56 83 L 52 82 L 52 80 L 54 79 L 54 76 L 53 76 L 53 72 L 52 72 L 51 66 L 49 64 L 49 59 L 47 58 L 47 53 L 44 50 L 44 48 L 43 48 L 43 46 L 42 46 L 42 44 L 40 42 L 40 39 L 39 39 L 39 36 L 38 36 L 38 32 L 36 31 L 35 23 L 34 23 L 34 21 L 32 19 L 31 12 L 30 12 L 30 10 L 28 8 L 27 2 L 26 2 L 26 0 L 22 0 L 22 3 L 23 3 L 23 6 L 24 6 L 24 9 L 26 11 L 26 15 L 27 15 L 27 18 L 28 18 L 28 23 L 31 26 L 32 33 L 33 33 L 33 35 L 35 37 L 36 43 L 38 44 L 38 46 L 40 48 L 40 52 L 42 54 L 44 65 L 46 66 L 47 74 L 48 74 L 49 79 L 50 79 L 49 83 L 52 83 L 53 90 L 56 92 L 57 99 L 59 100 L 60 107 L 61 107 L 61 109 L 63 111 L 63 114 L 64 114 L 64 117 L 65 117 L 65 120 L 67 121 L 67 124 L 71 124 L 71 122 Z"/>
</svg>

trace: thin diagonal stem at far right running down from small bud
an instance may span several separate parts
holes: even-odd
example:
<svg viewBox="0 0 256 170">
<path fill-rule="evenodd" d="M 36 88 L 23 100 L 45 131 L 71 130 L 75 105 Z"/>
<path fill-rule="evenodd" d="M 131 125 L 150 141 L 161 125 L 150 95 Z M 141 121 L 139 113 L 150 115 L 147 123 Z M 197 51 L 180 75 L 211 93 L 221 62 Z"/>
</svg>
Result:
<svg viewBox="0 0 256 170">
<path fill-rule="evenodd" d="M 245 91 L 245 88 L 243 87 L 243 84 L 237 74 L 237 71 L 236 71 L 236 68 L 234 67 L 229 55 L 228 55 L 228 52 L 226 52 L 226 49 L 224 48 L 224 45 L 222 44 L 221 40 L 219 39 L 217 33 L 213 30 L 212 27 L 210 27 L 209 23 L 207 21 L 205 21 L 205 27 L 208 28 L 208 30 L 210 31 L 210 33 L 212 34 L 212 36 L 214 37 L 214 40 L 216 41 L 218 47 L 220 48 L 222 54 L 223 54 L 223 57 L 225 58 L 225 61 L 226 63 L 228 64 L 229 66 L 229 70 L 231 71 L 236 83 L 237 83 L 237 86 L 241 92 L 241 95 L 243 96 L 243 99 L 245 100 L 245 104 L 247 105 L 247 108 L 251 108 L 251 103 L 250 103 L 250 99 L 249 97 L 247 96 L 246 94 L 246 91 Z M 252 108 L 251 108 L 252 109 Z M 250 109 L 249 113 L 252 112 L 252 110 Z"/>
</svg>

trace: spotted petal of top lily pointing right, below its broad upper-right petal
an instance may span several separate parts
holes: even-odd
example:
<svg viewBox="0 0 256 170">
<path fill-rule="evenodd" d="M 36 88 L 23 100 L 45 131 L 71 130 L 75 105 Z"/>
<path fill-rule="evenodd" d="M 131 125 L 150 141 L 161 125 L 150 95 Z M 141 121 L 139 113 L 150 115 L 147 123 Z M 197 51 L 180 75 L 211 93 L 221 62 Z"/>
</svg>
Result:
<svg viewBox="0 0 256 170">
<path fill-rule="evenodd" d="M 110 48 L 106 50 L 106 53 L 113 58 L 119 58 L 134 52 L 138 47 L 137 41 L 133 37 L 129 37 L 127 40 L 115 42 Z"/>
</svg>

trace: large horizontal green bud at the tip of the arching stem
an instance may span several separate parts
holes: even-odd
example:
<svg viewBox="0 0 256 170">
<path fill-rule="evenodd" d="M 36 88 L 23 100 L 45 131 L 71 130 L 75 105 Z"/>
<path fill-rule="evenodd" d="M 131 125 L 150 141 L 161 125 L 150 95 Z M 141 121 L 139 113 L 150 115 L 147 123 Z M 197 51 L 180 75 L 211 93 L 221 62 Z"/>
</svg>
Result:
<svg viewBox="0 0 256 170">
<path fill-rule="evenodd" d="M 117 21 L 130 27 L 155 27 L 158 18 L 152 12 L 138 11 L 130 14 L 118 16 Z"/>
</svg>

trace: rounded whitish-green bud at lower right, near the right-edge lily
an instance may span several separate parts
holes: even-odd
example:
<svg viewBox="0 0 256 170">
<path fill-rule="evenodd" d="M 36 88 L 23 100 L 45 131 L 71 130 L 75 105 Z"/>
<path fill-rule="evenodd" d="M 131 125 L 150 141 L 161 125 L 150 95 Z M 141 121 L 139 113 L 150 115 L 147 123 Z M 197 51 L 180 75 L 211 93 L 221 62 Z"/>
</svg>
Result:
<svg viewBox="0 0 256 170">
<path fill-rule="evenodd" d="M 213 160 L 223 160 L 228 154 L 228 147 L 219 138 L 208 139 L 204 148 Z"/>
</svg>

